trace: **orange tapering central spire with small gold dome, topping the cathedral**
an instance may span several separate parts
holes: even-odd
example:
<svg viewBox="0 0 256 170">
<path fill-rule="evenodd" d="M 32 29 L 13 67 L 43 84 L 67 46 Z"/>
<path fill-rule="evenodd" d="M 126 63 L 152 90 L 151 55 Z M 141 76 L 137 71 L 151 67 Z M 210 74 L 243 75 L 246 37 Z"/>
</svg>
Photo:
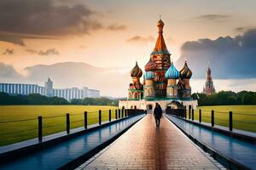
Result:
<svg viewBox="0 0 256 170">
<path fill-rule="evenodd" d="M 166 42 L 165 42 L 164 37 L 163 37 L 163 28 L 164 28 L 164 26 L 165 26 L 165 23 L 160 19 L 157 22 L 158 38 L 157 38 L 157 41 L 155 43 L 154 51 L 163 52 L 163 51 L 167 50 Z"/>
</svg>

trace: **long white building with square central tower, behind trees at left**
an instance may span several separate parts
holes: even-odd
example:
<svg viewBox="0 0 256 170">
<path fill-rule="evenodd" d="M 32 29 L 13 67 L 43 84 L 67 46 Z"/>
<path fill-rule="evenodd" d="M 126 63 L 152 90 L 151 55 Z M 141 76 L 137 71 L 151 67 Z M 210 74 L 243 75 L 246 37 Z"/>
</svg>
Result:
<svg viewBox="0 0 256 170">
<path fill-rule="evenodd" d="M 0 83 L 0 92 L 7 94 L 41 94 L 47 97 L 60 97 L 71 99 L 99 98 L 100 91 L 89 88 L 53 88 L 53 82 L 48 79 L 44 87 L 37 84 Z"/>
</svg>

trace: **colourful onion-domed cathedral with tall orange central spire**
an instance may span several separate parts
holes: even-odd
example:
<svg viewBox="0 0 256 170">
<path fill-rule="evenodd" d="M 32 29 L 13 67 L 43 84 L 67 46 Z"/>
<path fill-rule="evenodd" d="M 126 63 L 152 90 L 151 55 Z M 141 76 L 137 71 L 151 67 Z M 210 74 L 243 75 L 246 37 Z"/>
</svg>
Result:
<svg viewBox="0 0 256 170">
<path fill-rule="evenodd" d="M 150 110 L 155 103 L 159 103 L 162 109 L 197 106 L 197 100 L 191 99 L 189 80 L 192 71 L 187 62 L 177 71 L 163 37 L 164 22 L 159 20 L 157 27 L 158 38 L 144 67 L 144 73 L 136 62 L 130 72 L 128 97 L 119 101 L 119 108 Z M 143 82 L 140 81 L 141 77 Z"/>
</svg>

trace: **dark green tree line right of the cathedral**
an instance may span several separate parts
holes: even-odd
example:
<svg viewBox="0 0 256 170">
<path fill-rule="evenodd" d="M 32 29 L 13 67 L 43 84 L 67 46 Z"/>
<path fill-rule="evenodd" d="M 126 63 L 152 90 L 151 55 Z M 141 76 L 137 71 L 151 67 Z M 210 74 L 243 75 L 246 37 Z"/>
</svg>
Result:
<svg viewBox="0 0 256 170">
<path fill-rule="evenodd" d="M 220 91 L 216 94 L 192 94 L 193 99 L 198 99 L 198 105 L 256 105 L 256 92 Z"/>
</svg>

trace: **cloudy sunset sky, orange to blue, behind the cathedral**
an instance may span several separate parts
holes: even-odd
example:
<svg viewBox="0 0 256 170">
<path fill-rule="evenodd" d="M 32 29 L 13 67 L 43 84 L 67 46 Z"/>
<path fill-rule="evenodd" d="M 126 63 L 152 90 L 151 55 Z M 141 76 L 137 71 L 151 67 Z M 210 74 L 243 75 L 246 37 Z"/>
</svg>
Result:
<svg viewBox="0 0 256 170">
<path fill-rule="evenodd" d="M 255 91 L 255 6 L 253 0 L 1 0 L 0 82 L 36 83 L 28 67 L 83 62 L 114 68 L 124 81 L 100 86 L 49 75 L 55 88 L 90 85 L 124 97 L 128 72 L 136 60 L 143 69 L 154 48 L 161 15 L 177 69 L 188 60 L 193 71 L 193 92 L 202 90 L 208 61 L 217 90 Z"/>
</svg>

